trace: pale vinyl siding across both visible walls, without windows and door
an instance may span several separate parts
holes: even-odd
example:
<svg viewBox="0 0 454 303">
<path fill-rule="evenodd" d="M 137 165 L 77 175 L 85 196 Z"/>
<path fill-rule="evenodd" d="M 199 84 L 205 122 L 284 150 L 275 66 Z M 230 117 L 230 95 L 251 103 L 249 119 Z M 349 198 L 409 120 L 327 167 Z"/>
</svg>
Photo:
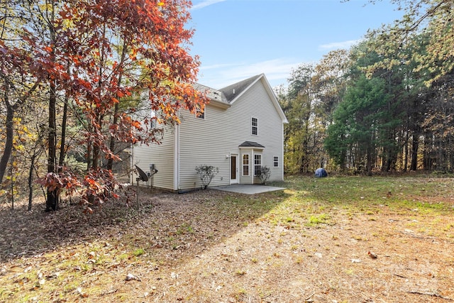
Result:
<svg viewBox="0 0 454 303">
<path fill-rule="evenodd" d="M 251 184 L 260 182 L 258 178 L 253 177 L 254 155 L 260 154 L 261 165 L 271 169 L 270 181 L 283 180 L 283 165 L 274 167 L 273 157 L 279 156 L 281 159 L 284 157 L 284 126 L 265 85 L 266 80 L 260 78 L 227 109 L 216 104 L 207 104 L 208 115 L 205 115 L 205 119 L 194 119 L 194 114 L 189 111 L 179 111 L 181 124 L 177 129 L 166 130 L 162 145 L 135 148 L 134 153 L 138 152 L 135 158 L 140 158 L 140 168 L 146 168 L 148 171 L 149 164 L 152 163 L 150 161 L 153 161 L 159 170 L 154 178 L 155 186 L 158 186 L 159 180 L 159 184 L 165 185 L 160 187 L 174 190 L 199 189 L 201 181 L 196 175 L 196 166 L 218 167 L 219 172 L 209 184 L 210 187 L 228 185 L 231 180 L 231 155 L 237 155 L 236 175 L 239 182 Z M 260 123 L 260 130 L 258 129 L 256 135 L 251 131 L 251 117 Z M 245 141 L 259 143 L 265 148 L 241 150 L 239 145 Z M 248 176 L 243 176 L 245 154 L 249 155 Z M 169 167 L 165 167 L 165 163 Z"/>
</svg>

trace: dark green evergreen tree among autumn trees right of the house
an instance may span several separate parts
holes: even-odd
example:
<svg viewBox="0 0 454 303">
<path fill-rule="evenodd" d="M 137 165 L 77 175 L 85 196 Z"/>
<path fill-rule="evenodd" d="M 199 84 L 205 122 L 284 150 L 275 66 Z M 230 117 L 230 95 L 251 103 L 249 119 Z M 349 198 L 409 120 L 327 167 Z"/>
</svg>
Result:
<svg viewBox="0 0 454 303">
<path fill-rule="evenodd" d="M 333 113 L 333 124 L 328 127 L 325 147 L 338 165 L 346 160 L 355 168 L 364 165 L 372 175 L 372 165 L 385 129 L 386 104 L 389 95 L 380 78 L 367 79 L 360 75 Z M 347 158 L 347 159 L 345 159 Z"/>
</svg>

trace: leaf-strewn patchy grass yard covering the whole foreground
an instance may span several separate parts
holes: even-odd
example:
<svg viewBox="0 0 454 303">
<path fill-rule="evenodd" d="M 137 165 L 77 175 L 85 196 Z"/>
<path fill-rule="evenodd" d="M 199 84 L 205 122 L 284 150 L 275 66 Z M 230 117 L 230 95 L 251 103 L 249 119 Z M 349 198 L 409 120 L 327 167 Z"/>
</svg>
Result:
<svg viewBox="0 0 454 303">
<path fill-rule="evenodd" d="M 450 302 L 454 180 L 141 190 L 141 209 L 0 212 L 0 302 Z M 377 255 L 371 258 L 370 252 Z"/>
</svg>

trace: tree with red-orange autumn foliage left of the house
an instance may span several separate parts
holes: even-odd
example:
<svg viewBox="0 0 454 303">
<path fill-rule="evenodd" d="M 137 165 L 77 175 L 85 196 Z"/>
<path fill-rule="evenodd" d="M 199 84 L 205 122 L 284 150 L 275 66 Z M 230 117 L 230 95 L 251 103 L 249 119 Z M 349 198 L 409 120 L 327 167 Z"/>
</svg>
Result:
<svg viewBox="0 0 454 303">
<path fill-rule="evenodd" d="M 126 114 L 133 109 L 118 112 L 122 98 L 148 92 L 148 107 L 162 109 L 162 121 L 169 123 L 179 123 L 179 109 L 194 111 L 206 102 L 192 85 L 199 61 L 187 49 L 194 33 L 185 28 L 190 5 L 188 0 L 66 1 L 56 11 L 52 40 L 26 32 L 24 50 L 0 41 L 3 67 L 17 73 L 28 62 L 23 74 L 52 79 L 57 94 L 74 100 L 88 121 L 81 144 L 92 150 L 93 165 L 82 182 L 84 201 L 104 201 L 103 192 L 116 185 L 111 172 L 98 167 L 102 154 L 119 159 L 107 144 L 109 134 L 129 143 L 158 141 L 153 132 L 140 133 L 143 121 Z M 115 125 L 112 116 L 118 118 Z M 76 184 L 62 178 L 52 172 L 42 182 L 50 189 Z"/>
</svg>

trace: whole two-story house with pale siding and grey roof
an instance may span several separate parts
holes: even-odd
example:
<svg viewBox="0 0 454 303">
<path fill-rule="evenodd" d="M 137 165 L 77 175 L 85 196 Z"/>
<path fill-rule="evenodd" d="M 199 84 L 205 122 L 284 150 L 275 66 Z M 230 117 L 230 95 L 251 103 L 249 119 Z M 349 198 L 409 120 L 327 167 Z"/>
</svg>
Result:
<svg viewBox="0 0 454 303">
<path fill-rule="evenodd" d="M 162 126 L 161 144 L 133 146 L 132 166 L 150 172 L 154 165 L 153 187 L 178 192 L 201 188 L 199 165 L 218 168 L 210 187 L 256 184 L 262 166 L 270 168 L 269 181 L 283 180 L 288 122 L 265 75 L 223 89 L 198 89 L 210 99 L 204 113 L 180 110 L 179 125 Z"/>
</svg>

